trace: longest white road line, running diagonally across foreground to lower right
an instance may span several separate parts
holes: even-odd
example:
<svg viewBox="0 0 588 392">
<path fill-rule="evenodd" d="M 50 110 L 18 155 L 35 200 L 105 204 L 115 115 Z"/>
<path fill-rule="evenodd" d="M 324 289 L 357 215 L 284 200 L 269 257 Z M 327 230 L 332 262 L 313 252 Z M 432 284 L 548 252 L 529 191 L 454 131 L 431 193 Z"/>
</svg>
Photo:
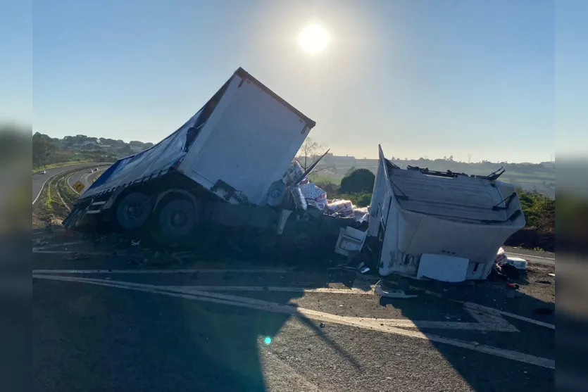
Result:
<svg viewBox="0 0 588 392">
<path fill-rule="evenodd" d="M 351 327 L 358 327 L 362 329 L 371 329 L 376 331 L 382 331 L 387 334 L 396 334 L 401 336 L 409 336 L 416 339 L 423 339 L 428 341 L 434 341 L 437 343 L 444 343 L 450 346 L 456 346 L 460 348 L 466 348 L 468 350 L 477 351 L 479 353 L 486 353 L 489 355 L 495 355 L 501 358 L 507 358 L 518 362 L 525 362 L 530 365 L 537 365 L 540 367 L 546 367 L 549 369 L 555 369 L 555 360 L 548 358 L 540 358 L 534 355 L 525 353 L 519 353 L 513 350 L 505 350 L 502 348 L 496 348 L 491 346 L 484 346 L 475 342 L 460 341 L 457 339 L 448 339 L 442 336 L 423 334 L 420 331 L 411 331 L 408 329 L 401 329 L 397 327 L 389 327 L 382 322 L 382 320 L 373 319 L 361 319 L 361 317 L 344 317 L 339 315 L 331 315 L 325 312 L 318 312 L 315 310 L 309 310 L 304 308 L 297 308 L 292 305 L 280 305 L 277 303 L 270 303 L 267 301 L 256 300 L 252 298 L 244 298 L 238 296 L 229 296 L 220 293 L 207 293 L 206 291 L 199 291 L 197 293 L 181 293 L 168 291 L 161 289 L 161 286 L 153 286 L 150 284 L 131 284 L 127 282 L 112 282 L 104 281 L 102 279 L 82 279 L 75 277 L 60 277 L 51 275 L 34 274 L 35 279 L 50 279 L 63 282 L 78 282 L 86 284 L 95 284 L 98 286 L 114 287 L 117 289 L 144 291 L 148 293 L 159 293 L 167 296 L 173 296 L 177 298 L 185 298 L 194 301 L 206 301 L 211 303 L 219 303 L 223 305 L 234 305 L 242 308 L 250 308 L 255 310 L 264 310 L 268 312 L 276 312 L 287 315 L 295 315 L 298 317 L 306 317 L 311 320 L 320 320 L 333 322 L 335 324 L 349 325 Z M 359 319 L 359 320 L 358 320 Z M 384 325 L 382 325 L 384 324 Z"/>
</svg>

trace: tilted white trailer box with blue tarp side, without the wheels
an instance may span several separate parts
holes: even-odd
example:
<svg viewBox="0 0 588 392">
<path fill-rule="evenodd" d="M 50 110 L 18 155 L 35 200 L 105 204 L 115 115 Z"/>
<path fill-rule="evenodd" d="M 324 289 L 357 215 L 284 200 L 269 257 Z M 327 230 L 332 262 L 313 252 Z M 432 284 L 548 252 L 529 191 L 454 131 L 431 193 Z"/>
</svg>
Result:
<svg viewBox="0 0 588 392">
<path fill-rule="evenodd" d="M 263 206 L 270 184 L 282 178 L 314 126 L 239 68 L 180 129 L 118 160 L 80 200 L 149 181 L 173 167 L 229 203 Z"/>
</svg>

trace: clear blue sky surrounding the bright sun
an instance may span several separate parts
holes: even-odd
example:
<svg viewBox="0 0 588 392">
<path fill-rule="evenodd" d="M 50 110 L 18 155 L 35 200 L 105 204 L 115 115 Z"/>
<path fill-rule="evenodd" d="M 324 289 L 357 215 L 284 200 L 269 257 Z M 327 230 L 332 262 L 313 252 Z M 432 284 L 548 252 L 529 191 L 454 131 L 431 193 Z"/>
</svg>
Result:
<svg viewBox="0 0 588 392">
<path fill-rule="evenodd" d="M 335 155 L 376 158 L 381 144 L 400 158 L 541 162 L 587 145 L 588 75 L 572 74 L 588 64 L 587 4 L 15 1 L 0 34 L 22 33 L 0 50 L 18 61 L 0 64 L 14 75 L 0 88 L 26 88 L 0 96 L 0 117 L 51 137 L 157 142 L 242 67 L 315 120 L 310 136 Z M 331 38 L 314 56 L 296 42 L 311 23 Z"/>
</svg>

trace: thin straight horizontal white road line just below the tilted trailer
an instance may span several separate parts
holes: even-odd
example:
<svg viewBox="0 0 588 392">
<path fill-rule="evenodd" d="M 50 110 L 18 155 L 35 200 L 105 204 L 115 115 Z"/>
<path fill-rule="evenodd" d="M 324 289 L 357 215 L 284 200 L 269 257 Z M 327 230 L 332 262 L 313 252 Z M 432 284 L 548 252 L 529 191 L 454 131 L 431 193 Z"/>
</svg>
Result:
<svg viewBox="0 0 588 392">
<path fill-rule="evenodd" d="M 48 251 L 51 252 L 51 251 Z M 72 252 L 68 252 L 72 253 Z M 89 252 L 83 252 L 82 254 L 92 254 Z M 112 253 L 105 253 L 112 255 Z M 238 268 L 233 269 L 217 269 L 217 268 L 183 268 L 177 270 L 32 270 L 33 274 L 193 274 L 194 272 L 200 272 L 203 274 L 255 274 L 255 273 L 275 273 L 275 274 L 287 274 L 292 272 L 292 269 L 288 268 L 259 268 L 242 270 Z"/>
</svg>

